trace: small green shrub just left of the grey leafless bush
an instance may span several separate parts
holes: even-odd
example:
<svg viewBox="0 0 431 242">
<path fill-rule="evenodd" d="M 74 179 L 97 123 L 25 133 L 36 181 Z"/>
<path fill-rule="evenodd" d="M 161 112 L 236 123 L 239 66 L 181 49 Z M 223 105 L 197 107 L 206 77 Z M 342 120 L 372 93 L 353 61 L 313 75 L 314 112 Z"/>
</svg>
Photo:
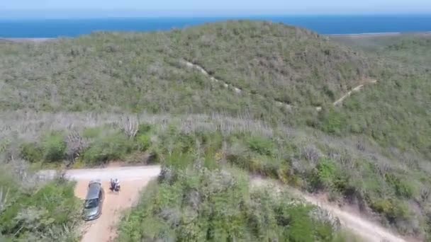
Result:
<svg viewBox="0 0 431 242">
<path fill-rule="evenodd" d="M 65 137 L 61 132 L 52 132 L 42 140 L 43 159 L 48 162 L 62 161 L 66 154 Z"/>
</svg>

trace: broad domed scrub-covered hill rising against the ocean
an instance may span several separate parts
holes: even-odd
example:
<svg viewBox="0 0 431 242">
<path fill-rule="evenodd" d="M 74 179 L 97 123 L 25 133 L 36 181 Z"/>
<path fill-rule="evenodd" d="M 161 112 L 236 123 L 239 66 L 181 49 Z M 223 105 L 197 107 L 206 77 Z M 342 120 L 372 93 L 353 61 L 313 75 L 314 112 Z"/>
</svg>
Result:
<svg viewBox="0 0 431 242">
<path fill-rule="evenodd" d="M 286 25 L 232 21 L 161 33 L 0 43 L 0 109 L 281 113 L 322 105 L 369 76 L 357 52 Z M 187 60 L 221 83 L 181 64 Z M 274 110 L 276 109 L 276 110 Z M 263 113 L 263 114 L 262 114 Z"/>
</svg>

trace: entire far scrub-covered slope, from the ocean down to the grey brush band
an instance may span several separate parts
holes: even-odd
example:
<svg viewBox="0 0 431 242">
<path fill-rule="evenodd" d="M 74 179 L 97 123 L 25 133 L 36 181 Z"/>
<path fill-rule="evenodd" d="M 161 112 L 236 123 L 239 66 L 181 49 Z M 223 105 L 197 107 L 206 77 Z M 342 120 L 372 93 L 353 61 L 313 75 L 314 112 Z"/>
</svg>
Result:
<svg viewBox="0 0 431 242">
<path fill-rule="evenodd" d="M 429 37 L 369 38 L 345 40 L 359 45 L 351 49 L 301 28 L 232 21 L 161 33 L 1 42 L 0 110 L 247 115 L 330 134 L 366 134 L 387 148 L 431 159 Z M 378 83 L 332 109 L 366 78 Z"/>
</svg>

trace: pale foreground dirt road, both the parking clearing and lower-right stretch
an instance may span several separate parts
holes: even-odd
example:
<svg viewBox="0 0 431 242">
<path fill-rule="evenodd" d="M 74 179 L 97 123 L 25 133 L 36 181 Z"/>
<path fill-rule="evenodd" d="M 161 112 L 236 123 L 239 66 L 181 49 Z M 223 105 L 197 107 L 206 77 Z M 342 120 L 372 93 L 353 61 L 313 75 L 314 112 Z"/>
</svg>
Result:
<svg viewBox="0 0 431 242">
<path fill-rule="evenodd" d="M 101 179 L 105 191 L 105 201 L 103 202 L 102 215 L 95 221 L 87 222 L 84 226 L 82 241 L 84 242 L 106 242 L 112 241 L 116 237 L 116 224 L 121 218 L 121 212 L 124 209 L 132 207 L 138 201 L 139 192 L 147 183 L 156 178 L 160 173 L 159 166 L 138 166 L 138 167 L 116 167 L 103 169 L 82 169 L 69 170 L 65 177 L 69 180 L 77 180 L 75 195 L 84 198 L 86 195 L 86 186 L 89 180 Z M 40 173 L 45 177 L 54 177 L 55 171 L 43 171 Z M 118 178 L 121 181 L 121 192 L 115 193 L 108 190 L 109 179 Z M 404 242 L 407 241 L 401 236 L 397 236 L 388 229 L 384 229 L 378 224 L 369 221 L 358 214 L 337 207 L 325 200 L 313 195 L 305 194 L 299 190 L 286 188 L 274 180 L 263 178 L 251 178 L 251 184 L 254 186 L 269 185 L 275 186 L 276 189 L 289 189 L 293 195 L 303 197 L 306 202 L 315 204 L 330 212 L 333 216 L 338 217 L 342 226 L 350 229 L 364 241 L 370 242 Z"/>
</svg>

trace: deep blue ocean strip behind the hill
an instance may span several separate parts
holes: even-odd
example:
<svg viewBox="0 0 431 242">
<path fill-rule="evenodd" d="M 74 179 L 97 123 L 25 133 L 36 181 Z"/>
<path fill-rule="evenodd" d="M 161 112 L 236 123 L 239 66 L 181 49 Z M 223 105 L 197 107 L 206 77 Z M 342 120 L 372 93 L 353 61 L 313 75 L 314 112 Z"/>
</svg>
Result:
<svg viewBox="0 0 431 242">
<path fill-rule="evenodd" d="M 285 23 L 320 34 L 406 33 L 431 31 L 429 15 L 259 16 L 225 18 L 0 19 L 0 38 L 77 37 L 94 31 L 158 31 L 203 23 L 249 19 Z"/>
</svg>

